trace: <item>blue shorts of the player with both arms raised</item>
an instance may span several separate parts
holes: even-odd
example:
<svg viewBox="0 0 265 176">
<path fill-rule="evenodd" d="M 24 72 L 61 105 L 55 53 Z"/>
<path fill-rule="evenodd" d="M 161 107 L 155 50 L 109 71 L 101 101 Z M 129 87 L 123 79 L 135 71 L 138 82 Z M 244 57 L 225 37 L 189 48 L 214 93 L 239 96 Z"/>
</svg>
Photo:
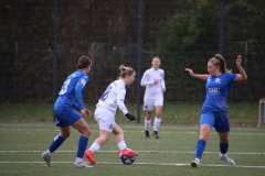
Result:
<svg viewBox="0 0 265 176">
<path fill-rule="evenodd" d="M 230 121 L 227 112 L 202 112 L 200 125 L 209 124 L 211 129 L 214 127 L 218 133 L 230 131 Z"/>
</svg>

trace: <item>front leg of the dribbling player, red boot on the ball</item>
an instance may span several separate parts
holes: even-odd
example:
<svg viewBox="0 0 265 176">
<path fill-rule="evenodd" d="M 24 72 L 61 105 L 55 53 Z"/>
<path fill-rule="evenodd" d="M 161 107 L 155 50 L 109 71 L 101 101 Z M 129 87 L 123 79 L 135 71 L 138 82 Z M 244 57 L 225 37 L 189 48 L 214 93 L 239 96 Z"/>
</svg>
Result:
<svg viewBox="0 0 265 176">
<path fill-rule="evenodd" d="M 124 140 L 124 131 L 118 124 L 114 124 L 113 133 L 115 134 L 115 140 L 118 145 L 119 151 L 121 152 L 123 156 L 128 156 L 130 158 L 135 157 L 137 153 L 132 150 L 127 148 L 127 144 Z"/>
</svg>

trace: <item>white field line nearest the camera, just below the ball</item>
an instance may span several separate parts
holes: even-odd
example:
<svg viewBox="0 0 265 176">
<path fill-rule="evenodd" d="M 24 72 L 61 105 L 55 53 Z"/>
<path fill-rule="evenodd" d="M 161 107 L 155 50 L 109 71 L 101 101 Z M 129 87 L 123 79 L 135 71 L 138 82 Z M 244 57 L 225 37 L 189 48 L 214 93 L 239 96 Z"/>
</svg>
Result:
<svg viewBox="0 0 265 176">
<path fill-rule="evenodd" d="M 73 162 L 52 162 L 56 164 L 73 164 Z M 0 162 L 0 164 L 44 164 L 44 162 Z M 120 165 L 121 163 L 113 163 L 113 162 L 97 162 L 97 164 L 105 165 Z M 160 165 L 160 166 L 190 166 L 189 163 L 134 163 L 134 165 Z M 243 167 L 243 168 L 265 168 L 265 166 L 246 166 L 246 165 L 215 165 L 215 164 L 200 164 L 200 166 L 208 167 Z"/>
</svg>

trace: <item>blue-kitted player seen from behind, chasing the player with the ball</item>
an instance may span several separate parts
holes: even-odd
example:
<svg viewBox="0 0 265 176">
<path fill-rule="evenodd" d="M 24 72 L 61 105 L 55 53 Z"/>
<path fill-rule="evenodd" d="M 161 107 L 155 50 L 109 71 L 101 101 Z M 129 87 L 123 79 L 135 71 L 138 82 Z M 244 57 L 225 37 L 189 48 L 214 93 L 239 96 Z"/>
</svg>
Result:
<svg viewBox="0 0 265 176">
<path fill-rule="evenodd" d="M 91 58 L 82 56 L 77 64 L 78 70 L 71 74 L 64 81 L 59 98 L 54 105 L 54 114 L 57 118 L 56 127 L 61 133 L 51 143 L 47 151 L 42 153 L 42 157 L 47 166 L 51 166 L 51 156 L 57 147 L 70 136 L 71 125 L 80 133 L 80 141 L 76 154 L 75 167 L 92 167 L 83 161 L 83 156 L 91 135 L 91 129 L 82 117 L 92 113 L 84 107 L 82 91 L 88 81 L 87 74 L 91 70 Z M 76 100 L 76 101 L 75 101 Z M 77 112 L 80 111 L 80 113 Z"/>
</svg>

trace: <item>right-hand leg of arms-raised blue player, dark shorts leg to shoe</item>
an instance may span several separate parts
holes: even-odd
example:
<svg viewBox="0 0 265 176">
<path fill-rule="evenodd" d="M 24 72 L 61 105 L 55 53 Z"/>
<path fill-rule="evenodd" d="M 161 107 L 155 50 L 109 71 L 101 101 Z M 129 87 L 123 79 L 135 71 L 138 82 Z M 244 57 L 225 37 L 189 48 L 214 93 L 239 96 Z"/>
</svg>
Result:
<svg viewBox="0 0 265 176">
<path fill-rule="evenodd" d="M 226 112 L 221 112 L 216 119 L 216 124 L 214 124 L 214 128 L 216 132 L 219 133 L 219 146 L 220 146 L 220 154 L 219 157 L 226 162 L 229 165 L 233 166 L 235 165 L 235 162 L 227 156 L 229 151 L 229 132 L 230 132 L 230 122 L 229 122 L 229 116 Z"/>
</svg>

